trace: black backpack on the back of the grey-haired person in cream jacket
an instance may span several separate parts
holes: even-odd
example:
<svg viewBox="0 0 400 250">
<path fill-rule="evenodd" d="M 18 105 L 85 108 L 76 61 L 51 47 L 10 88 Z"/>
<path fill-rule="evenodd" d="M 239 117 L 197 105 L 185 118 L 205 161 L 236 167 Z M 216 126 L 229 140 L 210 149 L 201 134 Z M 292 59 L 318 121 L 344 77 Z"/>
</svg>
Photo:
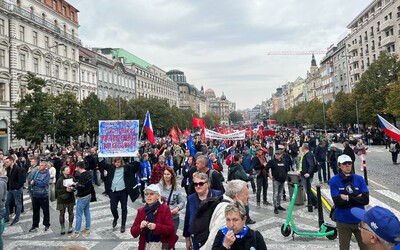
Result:
<svg viewBox="0 0 400 250">
<path fill-rule="evenodd" d="M 221 202 L 229 202 L 224 200 L 223 196 L 210 197 L 202 201 L 197 208 L 196 215 L 193 220 L 193 235 L 199 243 L 199 247 L 203 246 L 210 234 L 210 221 L 215 208 Z"/>
</svg>

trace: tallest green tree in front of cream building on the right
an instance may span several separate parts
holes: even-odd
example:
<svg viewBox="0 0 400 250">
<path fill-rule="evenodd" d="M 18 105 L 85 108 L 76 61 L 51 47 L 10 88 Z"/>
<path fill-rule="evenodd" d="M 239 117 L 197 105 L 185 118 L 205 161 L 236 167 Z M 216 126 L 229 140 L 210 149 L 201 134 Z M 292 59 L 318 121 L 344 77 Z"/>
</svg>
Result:
<svg viewBox="0 0 400 250">
<path fill-rule="evenodd" d="M 361 76 L 353 91 L 358 100 L 360 123 L 376 124 L 375 114 L 384 112 L 387 107 L 388 84 L 397 80 L 399 70 L 397 56 L 381 52 Z"/>
</svg>

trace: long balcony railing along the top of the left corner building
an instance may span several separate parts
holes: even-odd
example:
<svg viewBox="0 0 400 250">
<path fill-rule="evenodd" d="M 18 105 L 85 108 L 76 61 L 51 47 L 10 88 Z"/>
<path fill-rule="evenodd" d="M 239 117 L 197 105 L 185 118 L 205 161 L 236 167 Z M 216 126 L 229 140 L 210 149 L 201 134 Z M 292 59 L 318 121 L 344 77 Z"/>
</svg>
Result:
<svg viewBox="0 0 400 250">
<path fill-rule="evenodd" d="M 61 31 L 61 29 L 59 27 L 57 27 L 56 25 L 54 25 L 53 23 L 51 23 L 51 22 L 47 21 L 46 19 L 44 19 L 40 16 L 37 16 L 27 10 L 24 10 L 21 7 L 18 7 L 16 5 L 11 5 L 11 4 L 1 1 L 1 0 L 0 0 L 0 7 L 8 10 L 9 12 L 13 12 L 17 15 L 25 17 L 26 19 L 31 20 L 32 22 L 34 22 L 36 24 L 44 26 L 47 29 L 50 29 L 53 32 L 59 34 L 61 37 L 71 40 L 75 43 L 81 44 L 81 40 L 79 38 L 77 38 L 76 36 L 73 36 L 72 34 Z"/>
</svg>

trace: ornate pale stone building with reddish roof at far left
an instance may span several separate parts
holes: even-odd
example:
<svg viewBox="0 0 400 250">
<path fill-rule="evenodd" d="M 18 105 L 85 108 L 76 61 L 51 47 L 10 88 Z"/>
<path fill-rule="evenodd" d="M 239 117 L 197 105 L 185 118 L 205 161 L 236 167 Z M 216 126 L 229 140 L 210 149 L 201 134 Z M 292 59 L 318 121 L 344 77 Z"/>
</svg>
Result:
<svg viewBox="0 0 400 250">
<path fill-rule="evenodd" d="M 10 122 L 28 71 L 46 80 L 44 92 L 79 98 L 78 12 L 64 0 L 0 2 L 0 148 L 19 145 Z"/>
</svg>

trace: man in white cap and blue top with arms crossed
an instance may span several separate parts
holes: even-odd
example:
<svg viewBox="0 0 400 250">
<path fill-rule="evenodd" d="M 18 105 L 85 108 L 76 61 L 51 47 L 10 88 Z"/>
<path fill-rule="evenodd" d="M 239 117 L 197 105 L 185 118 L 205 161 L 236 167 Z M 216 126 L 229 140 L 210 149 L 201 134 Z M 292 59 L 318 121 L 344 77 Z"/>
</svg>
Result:
<svg viewBox="0 0 400 250">
<path fill-rule="evenodd" d="M 336 226 L 339 233 L 340 250 L 350 249 L 352 234 L 361 250 L 368 249 L 363 243 L 358 227 L 360 219 L 351 213 L 352 208 L 365 209 L 369 203 L 369 191 L 364 178 L 352 174 L 352 160 L 348 155 L 338 157 L 339 173 L 329 181 L 331 196 L 335 204 Z"/>
</svg>

